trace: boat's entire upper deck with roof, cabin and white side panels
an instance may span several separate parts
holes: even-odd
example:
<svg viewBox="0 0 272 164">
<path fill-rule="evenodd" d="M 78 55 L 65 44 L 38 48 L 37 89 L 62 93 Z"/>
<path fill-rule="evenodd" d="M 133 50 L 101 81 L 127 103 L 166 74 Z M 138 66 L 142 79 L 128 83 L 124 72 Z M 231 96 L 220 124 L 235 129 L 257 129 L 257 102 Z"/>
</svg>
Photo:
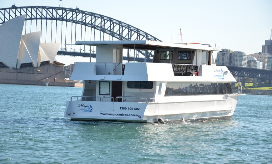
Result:
<svg viewBox="0 0 272 164">
<path fill-rule="evenodd" d="M 148 40 L 77 41 L 96 46 L 96 63 L 76 64 L 71 79 L 112 81 L 236 81 L 224 66 L 216 66 L 213 51 L 202 44 L 174 44 Z M 123 63 L 123 49 L 153 52 L 151 63 Z M 132 57 L 133 58 L 133 57 Z M 198 77 L 198 78 L 195 78 Z"/>
</svg>

